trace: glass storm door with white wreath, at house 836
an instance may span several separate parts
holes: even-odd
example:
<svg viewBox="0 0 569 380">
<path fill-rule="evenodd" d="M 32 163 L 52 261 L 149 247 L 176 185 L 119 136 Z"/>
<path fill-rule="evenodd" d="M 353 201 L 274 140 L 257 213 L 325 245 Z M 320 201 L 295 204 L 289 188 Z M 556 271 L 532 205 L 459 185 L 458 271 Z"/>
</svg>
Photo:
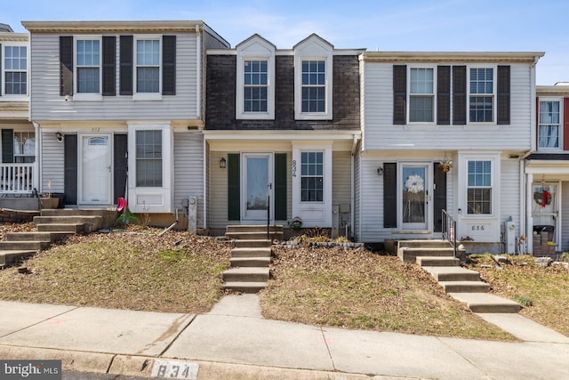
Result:
<svg viewBox="0 0 569 380">
<path fill-rule="evenodd" d="M 402 166 L 401 221 L 403 230 L 428 228 L 428 166 Z"/>
</svg>

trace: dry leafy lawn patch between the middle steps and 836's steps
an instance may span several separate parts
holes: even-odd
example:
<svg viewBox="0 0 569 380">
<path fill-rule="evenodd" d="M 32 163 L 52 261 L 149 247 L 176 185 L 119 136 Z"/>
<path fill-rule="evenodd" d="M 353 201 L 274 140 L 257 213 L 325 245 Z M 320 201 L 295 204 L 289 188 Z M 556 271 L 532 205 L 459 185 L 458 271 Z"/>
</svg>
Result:
<svg viewBox="0 0 569 380">
<path fill-rule="evenodd" d="M 417 265 L 365 250 L 274 249 L 263 315 L 319 326 L 511 340 Z"/>
</svg>

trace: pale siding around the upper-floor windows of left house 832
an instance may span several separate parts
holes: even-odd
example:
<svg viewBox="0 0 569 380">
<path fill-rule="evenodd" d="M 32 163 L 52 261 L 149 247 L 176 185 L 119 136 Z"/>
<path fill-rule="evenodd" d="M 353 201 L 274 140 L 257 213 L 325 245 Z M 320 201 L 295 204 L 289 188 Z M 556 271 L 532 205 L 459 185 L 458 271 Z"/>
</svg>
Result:
<svg viewBox="0 0 569 380">
<path fill-rule="evenodd" d="M 113 36 L 105 34 L 105 36 Z M 196 35 L 176 35 L 176 95 L 162 101 L 132 101 L 118 95 L 119 38 L 116 38 L 116 96 L 102 101 L 73 101 L 60 96 L 60 35 L 31 37 L 32 120 L 156 120 L 196 119 Z M 201 60 L 201 56 L 199 57 Z"/>
</svg>

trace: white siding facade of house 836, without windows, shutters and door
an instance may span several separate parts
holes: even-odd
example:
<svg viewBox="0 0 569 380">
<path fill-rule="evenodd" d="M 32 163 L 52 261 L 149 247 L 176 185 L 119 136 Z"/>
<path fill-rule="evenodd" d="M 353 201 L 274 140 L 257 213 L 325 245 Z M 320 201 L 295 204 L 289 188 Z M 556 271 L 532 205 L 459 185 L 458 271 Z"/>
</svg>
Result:
<svg viewBox="0 0 569 380">
<path fill-rule="evenodd" d="M 542 53 L 364 53 L 360 56 L 362 78 L 362 148 L 357 165 L 357 239 L 364 242 L 381 242 L 386 239 L 440 239 L 435 230 L 440 216 L 433 209 L 432 195 L 437 190 L 434 175 L 441 170 L 441 161 L 453 161 L 446 173 L 446 193 L 443 209 L 456 221 L 456 238 L 474 239 L 501 251 L 501 229 L 509 220 L 519 229 L 524 218 L 524 183 L 520 178 L 522 157 L 533 147 L 535 127 L 534 63 Z M 433 68 L 434 90 L 432 123 L 394 124 L 394 65 L 406 65 L 407 96 L 409 96 L 409 68 Z M 437 123 L 437 68 L 462 66 L 466 68 L 493 68 L 494 102 L 493 122 L 471 123 L 467 101 L 467 122 L 453 124 L 453 79 L 450 80 L 450 124 Z M 498 124 L 498 67 L 509 67 L 509 122 Z M 453 69 L 451 69 L 453 74 Z M 468 74 L 467 74 L 468 75 Z M 451 76 L 451 78 L 453 78 Z M 468 77 L 467 77 L 468 78 Z M 467 79 L 468 82 L 468 79 Z M 468 89 L 468 86 L 467 86 Z M 466 93 L 467 99 L 469 93 Z M 405 101 L 405 109 L 408 101 Z M 408 109 L 406 109 L 408 111 Z M 407 118 L 409 114 L 406 114 Z M 511 158 L 510 158 L 511 157 Z M 488 214 L 475 214 L 469 209 L 469 162 L 490 162 L 492 184 L 491 206 Z M 384 163 L 397 165 L 397 226 L 384 227 L 383 174 L 378 168 Z M 402 175 L 405 166 L 426 167 L 425 210 L 427 222 L 422 227 L 409 229 L 402 222 L 399 207 L 403 195 Z M 390 180 L 393 181 L 393 180 Z M 394 186 L 393 184 L 390 186 Z M 392 191 L 392 190 L 391 190 Z M 430 213 L 430 214 L 429 214 Z M 431 220 L 432 218 L 432 220 Z M 484 231 L 482 231 L 484 230 Z M 519 234 L 519 230 L 517 230 Z M 473 245 L 473 247 L 476 245 Z M 473 249 L 477 249 L 474 247 Z"/>
</svg>

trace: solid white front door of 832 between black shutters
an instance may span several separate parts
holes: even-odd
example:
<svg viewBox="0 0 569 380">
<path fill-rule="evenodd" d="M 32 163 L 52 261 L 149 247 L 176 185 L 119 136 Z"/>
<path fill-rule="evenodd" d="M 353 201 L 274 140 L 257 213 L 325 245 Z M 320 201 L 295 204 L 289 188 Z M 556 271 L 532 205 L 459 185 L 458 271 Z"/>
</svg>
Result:
<svg viewBox="0 0 569 380">
<path fill-rule="evenodd" d="M 112 203 L 111 134 L 80 134 L 79 139 L 78 203 L 80 205 L 109 205 Z"/>
</svg>

